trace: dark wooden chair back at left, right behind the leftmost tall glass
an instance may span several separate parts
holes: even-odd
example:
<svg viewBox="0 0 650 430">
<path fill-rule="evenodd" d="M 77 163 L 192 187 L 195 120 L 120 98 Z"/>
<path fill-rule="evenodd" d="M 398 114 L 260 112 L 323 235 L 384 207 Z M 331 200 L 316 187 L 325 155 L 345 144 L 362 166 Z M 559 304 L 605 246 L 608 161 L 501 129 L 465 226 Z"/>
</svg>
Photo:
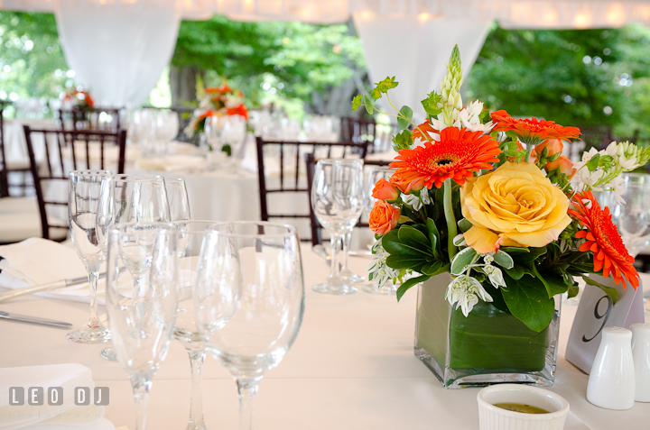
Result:
<svg viewBox="0 0 650 430">
<path fill-rule="evenodd" d="M 65 239 L 68 231 L 68 175 L 71 170 L 109 169 L 124 173 L 126 131 L 44 130 L 24 126 L 42 237 Z M 35 139 L 40 136 L 42 139 Z M 37 144 L 41 146 L 37 157 Z M 115 148 L 107 154 L 109 148 Z M 97 157 L 98 155 L 98 157 Z M 48 210 L 50 209 L 50 210 Z M 61 237 L 62 236 L 62 237 Z"/>
</svg>

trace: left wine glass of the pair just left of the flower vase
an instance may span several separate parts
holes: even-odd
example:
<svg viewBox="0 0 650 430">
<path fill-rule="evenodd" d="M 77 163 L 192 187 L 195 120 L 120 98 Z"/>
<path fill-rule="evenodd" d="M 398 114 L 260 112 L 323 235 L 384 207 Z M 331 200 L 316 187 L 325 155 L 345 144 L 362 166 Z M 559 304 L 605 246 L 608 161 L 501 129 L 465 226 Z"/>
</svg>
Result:
<svg viewBox="0 0 650 430">
<path fill-rule="evenodd" d="M 363 160 L 319 160 L 311 185 L 311 206 L 319 223 L 330 233 L 331 272 L 312 289 L 325 294 L 357 292 L 339 269 L 339 249 L 346 233 L 352 233 L 364 207 Z"/>
</svg>

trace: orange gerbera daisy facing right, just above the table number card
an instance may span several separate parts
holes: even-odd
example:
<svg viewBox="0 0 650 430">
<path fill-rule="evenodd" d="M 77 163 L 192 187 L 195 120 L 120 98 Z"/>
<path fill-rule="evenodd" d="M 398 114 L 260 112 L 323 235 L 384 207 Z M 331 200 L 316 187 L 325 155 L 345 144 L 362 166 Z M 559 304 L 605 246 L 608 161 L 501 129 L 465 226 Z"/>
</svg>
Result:
<svg viewBox="0 0 650 430">
<path fill-rule="evenodd" d="M 589 200 L 591 206 L 587 207 L 583 199 Z M 636 289 L 639 285 L 639 275 L 632 265 L 634 257 L 627 252 L 616 225 L 612 223 L 609 208 L 602 210 L 589 190 L 576 194 L 573 204 L 577 209 L 569 209 L 569 215 L 576 217 L 580 224 L 587 227 L 587 230 L 576 233 L 579 239 L 587 238 L 587 242 L 580 245 L 580 251 L 593 252 L 594 270 L 598 272 L 602 269 L 605 278 L 611 273 L 617 285 L 625 278 Z"/>
</svg>

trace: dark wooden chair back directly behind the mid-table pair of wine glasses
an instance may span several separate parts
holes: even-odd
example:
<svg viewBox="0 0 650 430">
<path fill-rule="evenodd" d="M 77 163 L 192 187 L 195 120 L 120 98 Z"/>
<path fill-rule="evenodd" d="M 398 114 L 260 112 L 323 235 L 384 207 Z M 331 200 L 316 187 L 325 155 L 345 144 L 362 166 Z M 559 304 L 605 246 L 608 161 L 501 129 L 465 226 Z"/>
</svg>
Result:
<svg viewBox="0 0 650 430">
<path fill-rule="evenodd" d="M 259 176 L 259 193 L 260 193 L 260 210 L 262 221 L 268 221 L 271 218 L 290 218 L 311 220 L 311 203 L 308 205 L 309 210 L 305 213 L 292 213 L 288 210 L 274 212 L 269 210 L 269 196 L 278 196 L 283 193 L 302 193 L 310 201 L 309 189 L 311 187 L 311 178 L 305 178 L 304 173 L 309 175 L 309 169 L 304 168 L 305 154 L 320 156 L 321 158 L 341 158 L 350 155 L 358 155 L 360 158 L 366 157 L 367 142 L 275 142 L 264 141 L 262 138 L 256 138 L 257 144 L 257 166 Z M 265 151 L 277 150 L 277 159 L 279 160 L 278 180 L 279 185 L 270 188 L 268 185 L 269 172 L 266 166 Z M 287 169 L 286 165 L 291 165 Z M 313 172 L 312 172 L 313 174 Z M 302 240 L 307 240 L 302 238 Z"/>
</svg>

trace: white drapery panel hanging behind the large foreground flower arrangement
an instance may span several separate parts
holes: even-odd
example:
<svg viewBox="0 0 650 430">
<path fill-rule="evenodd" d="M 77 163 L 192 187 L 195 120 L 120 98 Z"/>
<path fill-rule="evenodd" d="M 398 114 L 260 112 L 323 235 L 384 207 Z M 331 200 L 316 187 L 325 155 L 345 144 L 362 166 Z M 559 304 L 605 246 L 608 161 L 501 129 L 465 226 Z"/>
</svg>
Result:
<svg viewBox="0 0 650 430">
<path fill-rule="evenodd" d="M 421 120 L 425 113 L 420 101 L 431 91 L 440 91 L 454 45 L 459 45 L 467 76 L 491 23 L 374 14 L 354 14 L 354 21 L 372 81 L 395 77 L 399 86 L 391 90 L 391 101 L 398 109 L 408 105 Z M 383 106 L 393 113 L 390 105 L 383 102 Z"/>
</svg>

